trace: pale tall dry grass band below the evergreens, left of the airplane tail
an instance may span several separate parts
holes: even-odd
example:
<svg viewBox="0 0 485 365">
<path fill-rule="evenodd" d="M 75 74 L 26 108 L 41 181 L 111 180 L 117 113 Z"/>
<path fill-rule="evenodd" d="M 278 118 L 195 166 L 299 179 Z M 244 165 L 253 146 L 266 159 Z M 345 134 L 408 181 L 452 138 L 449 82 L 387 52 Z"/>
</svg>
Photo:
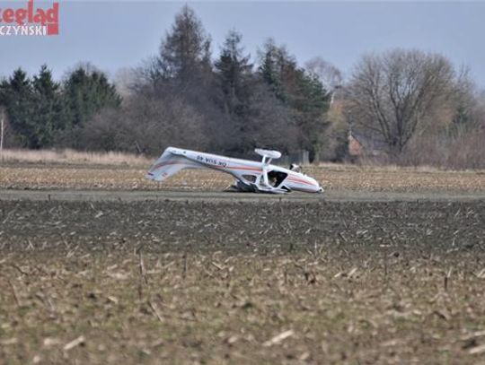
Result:
<svg viewBox="0 0 485 365">
<path fill-rule="evenodd" d="M 93 165 L 130 165 L 149 164 L 144 156 L 122 152 L 78 152 L 74 150 L 4 150 L 0 153 L 3 163 L 36 164 L 93 164 Z"/>
</svg>

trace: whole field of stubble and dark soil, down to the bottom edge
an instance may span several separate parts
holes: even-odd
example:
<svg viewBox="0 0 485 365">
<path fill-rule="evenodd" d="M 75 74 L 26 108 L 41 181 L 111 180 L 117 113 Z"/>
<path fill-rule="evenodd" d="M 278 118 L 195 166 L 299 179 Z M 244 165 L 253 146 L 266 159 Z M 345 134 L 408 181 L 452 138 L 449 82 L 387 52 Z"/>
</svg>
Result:
<svg viewBox="0 0 485 365">
<path fill-rule="evenodd" d="M 481 173 L 140 173 L 0 167 L 0 363 L 485 364 Z"/>
</svg>

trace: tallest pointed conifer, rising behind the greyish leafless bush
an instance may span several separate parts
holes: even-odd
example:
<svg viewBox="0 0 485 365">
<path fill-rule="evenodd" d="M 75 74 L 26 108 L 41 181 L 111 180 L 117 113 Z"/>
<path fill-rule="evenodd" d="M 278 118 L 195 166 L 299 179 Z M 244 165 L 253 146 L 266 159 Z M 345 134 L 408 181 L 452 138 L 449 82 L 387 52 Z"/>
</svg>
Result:
<svg viewBox="0 0 485 365">
<path fill-rule="evenodd" d="M 145 68 L 144 74 L 147 83 L 139 89 L 154 103 L 180 101 L 184 108 L 198 111 L 204 126 L 201 139 L 207 137 L 214 145 L 225 140 L 221 135 L 227 126 L 221 123 L 225 117 L 216 105 L 210 38 L 189 6 L 183 6 L 176 15 L 172 29 L 162 39 L 156 61 Z M 164 128 L 178 130 L 181 126 L 176 125 L 177 120 L 173 119 Z"/>
</svg>

